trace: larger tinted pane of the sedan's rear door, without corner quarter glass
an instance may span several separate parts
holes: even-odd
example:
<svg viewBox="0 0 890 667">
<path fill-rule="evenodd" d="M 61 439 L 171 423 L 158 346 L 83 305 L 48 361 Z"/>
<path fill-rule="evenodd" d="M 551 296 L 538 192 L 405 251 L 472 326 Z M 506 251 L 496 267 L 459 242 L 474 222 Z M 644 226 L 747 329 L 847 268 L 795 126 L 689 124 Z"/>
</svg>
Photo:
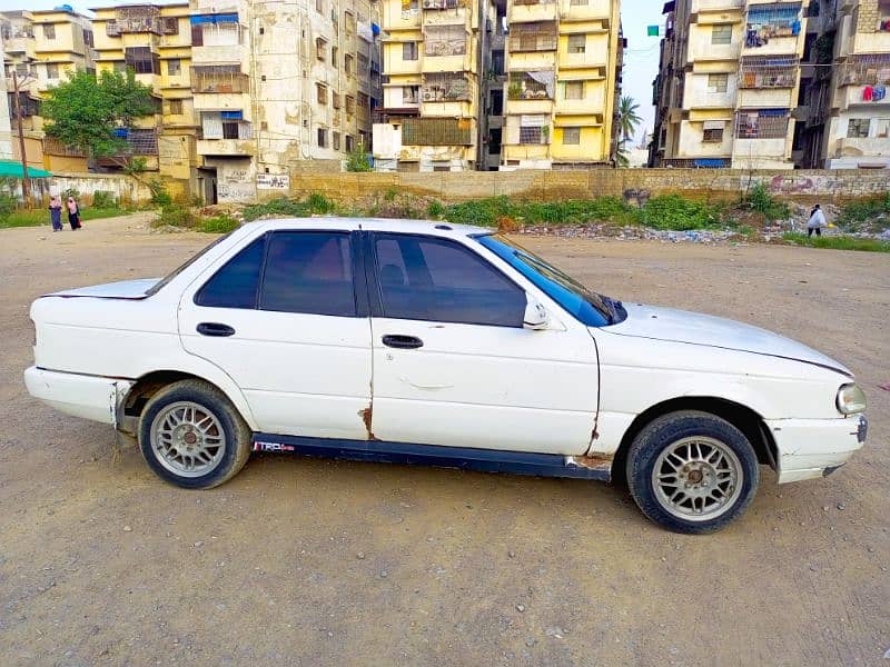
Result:
<svg viewBox="0 0 890 667">
<path fill-rule="evenodd" d="M 325 231 L 274 233 L 266 253 L 259 307 L 355 316 L 349 236 Z"/>
</svg>

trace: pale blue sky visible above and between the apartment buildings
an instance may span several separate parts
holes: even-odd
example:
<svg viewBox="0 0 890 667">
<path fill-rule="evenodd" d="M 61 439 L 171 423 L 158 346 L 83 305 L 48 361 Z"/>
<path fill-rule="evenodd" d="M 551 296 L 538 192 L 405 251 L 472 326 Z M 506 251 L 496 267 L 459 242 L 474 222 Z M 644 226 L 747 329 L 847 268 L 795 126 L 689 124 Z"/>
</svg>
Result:
<svg viewBox="0 0 890 667">
<path fill-rule="evenodd" d="M 3 9 L 52 9 L 59 4 L 70 4 L 75 10 L 85 12 L 87 8 L 127 4 L 138 0 L 0 0 Z M 154 0 L 166 4 L 172 0 Z M 652 79 L 659 71 L 659 43 L 661 38 L 646 37 L 646 26 L 663 26 L 661 13 L 664 0 L 621 0 L 621 22 L 624 37 L 627 38 L 627 51 L 624 56 L 623 94 L 631 96 L 640 104 L 643 126 L 652 131 L 655 110 L 652 108 Z"/>
</svg>

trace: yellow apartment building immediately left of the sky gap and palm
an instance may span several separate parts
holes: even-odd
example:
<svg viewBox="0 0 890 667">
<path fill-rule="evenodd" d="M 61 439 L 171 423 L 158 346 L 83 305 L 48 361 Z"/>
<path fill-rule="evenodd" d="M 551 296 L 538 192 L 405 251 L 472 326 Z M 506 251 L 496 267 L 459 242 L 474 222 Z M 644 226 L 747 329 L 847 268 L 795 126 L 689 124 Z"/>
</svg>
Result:
<svg viewBox="0 0 890 667">
<path fill-rule="evenodd" d="M 510 0 L 501 169 L 609 165 L 620 97 L 619 0 Z"/>
</svg>

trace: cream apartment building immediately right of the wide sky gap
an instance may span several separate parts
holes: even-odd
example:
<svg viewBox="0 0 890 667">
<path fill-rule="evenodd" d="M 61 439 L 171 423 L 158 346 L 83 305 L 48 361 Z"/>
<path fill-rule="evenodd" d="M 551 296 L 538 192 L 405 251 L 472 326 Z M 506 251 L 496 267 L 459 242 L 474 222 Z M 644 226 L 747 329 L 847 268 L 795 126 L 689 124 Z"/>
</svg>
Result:
<svg viewBox="0 0 890 667">
<path fill-rule="evenodd" d="M 793 169 L 809 0 L 675 0 L 650 166 Z"/>
</svg>

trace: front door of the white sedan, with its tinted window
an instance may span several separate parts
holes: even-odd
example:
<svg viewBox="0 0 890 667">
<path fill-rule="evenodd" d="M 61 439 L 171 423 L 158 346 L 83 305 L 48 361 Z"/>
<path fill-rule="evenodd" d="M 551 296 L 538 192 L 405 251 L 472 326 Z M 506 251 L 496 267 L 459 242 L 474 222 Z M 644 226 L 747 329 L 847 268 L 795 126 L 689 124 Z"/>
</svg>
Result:
<svg viewBox="0 0 890 667">
<path fill-rule="evenodd" d="M 375 232 L 366 236 L 366 252 L 374 437 L 587 450 L 599 374 L 595 344 L 583 325 L 523 328 L 526 288 L 533 286 L 521 286 L 457 240 Z"/>
</svg>

